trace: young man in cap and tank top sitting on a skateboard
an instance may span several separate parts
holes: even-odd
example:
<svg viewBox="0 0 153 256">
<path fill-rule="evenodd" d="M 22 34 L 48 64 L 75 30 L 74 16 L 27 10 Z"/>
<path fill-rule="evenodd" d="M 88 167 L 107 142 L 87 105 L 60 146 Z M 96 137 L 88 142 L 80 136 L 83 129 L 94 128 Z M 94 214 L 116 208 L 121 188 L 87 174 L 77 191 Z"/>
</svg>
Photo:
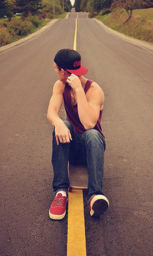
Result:
<svg viewBox="0 0 153 256">
<path fill-rule="evenodd" d="M 100 86 L 83 75 L 81 56 L 73 49 L 61 49 L 54 58 L 59 80 L 53 87 L 47 118 L 53 131 L 52 165 L 54 200 L 49 210 L 52 219 L 62 219 L 68 200 L 68 161 L 87 164 L 87 202 L 91 216 L 102 215 L 109 207 L 102 193 L 105 140 L 101 131 L 104 94 Z M 58 113 L 64 100 L 66 121 Z M 78 205 L 79 207 L 79 205 Z"/>
</svg>

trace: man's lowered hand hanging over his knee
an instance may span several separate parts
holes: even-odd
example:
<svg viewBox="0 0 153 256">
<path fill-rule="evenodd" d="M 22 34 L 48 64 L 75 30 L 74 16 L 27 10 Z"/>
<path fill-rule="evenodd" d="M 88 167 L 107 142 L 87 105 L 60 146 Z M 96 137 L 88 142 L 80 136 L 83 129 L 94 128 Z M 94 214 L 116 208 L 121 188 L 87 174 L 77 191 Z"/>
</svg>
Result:
<svg viewBox="0 0 153 256">
<path fill-rule="evenodd" d="M 71 133 L 63 121 L 55 125 L 55 136 L 57 145 L 59 145 L 59 140 L 61 143 L 70 143 L 72 140 Z"/>
</svg>

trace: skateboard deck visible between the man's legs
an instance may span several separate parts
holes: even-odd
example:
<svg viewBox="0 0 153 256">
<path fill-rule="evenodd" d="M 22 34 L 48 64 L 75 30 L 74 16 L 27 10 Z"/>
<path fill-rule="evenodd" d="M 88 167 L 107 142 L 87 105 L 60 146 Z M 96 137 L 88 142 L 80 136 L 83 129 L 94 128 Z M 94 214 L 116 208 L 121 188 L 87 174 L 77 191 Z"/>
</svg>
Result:
<svg viewBox="0 0 153 256">
<path fill-rule="evenodd" d="M 72 189 L 88 189 L 88 173 L 86 165 L 68 165 L 70 180 L 69 192 Z"/>
</svg>

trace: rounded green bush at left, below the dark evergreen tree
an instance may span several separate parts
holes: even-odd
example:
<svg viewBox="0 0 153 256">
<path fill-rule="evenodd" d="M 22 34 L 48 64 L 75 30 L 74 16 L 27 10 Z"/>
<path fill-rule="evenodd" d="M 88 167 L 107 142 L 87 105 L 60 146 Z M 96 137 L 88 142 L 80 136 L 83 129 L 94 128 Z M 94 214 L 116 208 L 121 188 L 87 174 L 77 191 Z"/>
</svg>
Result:
<svg viewBox="0 0 153 256">
<path fill-rule="evenodd" d="M 33 24 L 28 20 L 12 19 L 8 30 L 13 35 L 24 36 L 31 33 L 34 29 Z"/>
</svg>

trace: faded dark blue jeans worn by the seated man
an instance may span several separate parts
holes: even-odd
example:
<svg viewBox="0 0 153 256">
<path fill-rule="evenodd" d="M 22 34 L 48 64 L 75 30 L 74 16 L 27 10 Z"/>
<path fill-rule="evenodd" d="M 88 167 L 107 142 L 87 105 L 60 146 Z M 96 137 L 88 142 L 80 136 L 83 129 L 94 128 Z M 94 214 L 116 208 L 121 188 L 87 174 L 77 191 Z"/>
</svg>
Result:
<svg viewBox="0 0 153 256">
<path fill-rule="evenodd" d="M 104 166 L 105 140 L 95 129 L 86 130 L 83 134 L 75 133 L 70 122 L 64 121 L 71 133 L 70 143 L 57 145 L 55 131 L 53 131 L 52 165 L 53 165 L 53 193 L 60 190 L 68 193 L 69 177 L 68 161 L 72 164 L 87 165 L 88 169 L 88 196 L 89 203 L 92 195 L 102 193 L 102 179 Z"/>
</svg>

